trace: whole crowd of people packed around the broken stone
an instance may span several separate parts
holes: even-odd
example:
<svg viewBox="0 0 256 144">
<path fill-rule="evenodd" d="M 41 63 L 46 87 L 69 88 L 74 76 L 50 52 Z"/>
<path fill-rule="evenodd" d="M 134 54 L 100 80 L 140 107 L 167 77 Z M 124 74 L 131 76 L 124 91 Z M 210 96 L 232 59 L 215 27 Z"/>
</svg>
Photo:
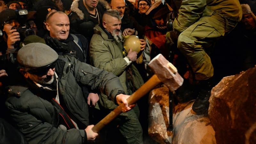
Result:
<svg viewBox="0 0 256 144">
<path fill-rule="evenodd" d="M 184 77 L 175 101 L 207 114 L 212 87 L 256 65 L 253 2 L 0 0 L 0 143 L 153 143 L 147 96 L 126 99 L 158 54 Z M 124 48 L 131 35 L 139 52 Z M 105 133 L 94 132 L 122 103 Z"/>
</svg>

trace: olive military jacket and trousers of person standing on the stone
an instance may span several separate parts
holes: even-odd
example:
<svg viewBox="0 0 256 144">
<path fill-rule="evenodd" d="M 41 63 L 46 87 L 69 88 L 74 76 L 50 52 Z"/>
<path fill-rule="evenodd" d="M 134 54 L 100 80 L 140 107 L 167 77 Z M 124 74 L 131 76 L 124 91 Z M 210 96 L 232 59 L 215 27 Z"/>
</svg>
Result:
<svg viewBox="0 0 256 144">
<path fill-rule="evenodd" d="M 180 33 L 178 49 L 187 58 L 196 80 L 213 76 L 211 59 L 205 50 L 231 31 L 241 19 L 238 0 L 182 1 L 173 29 Z M 166 38 L 171 40 L 170 35 Z"/>
</svg>

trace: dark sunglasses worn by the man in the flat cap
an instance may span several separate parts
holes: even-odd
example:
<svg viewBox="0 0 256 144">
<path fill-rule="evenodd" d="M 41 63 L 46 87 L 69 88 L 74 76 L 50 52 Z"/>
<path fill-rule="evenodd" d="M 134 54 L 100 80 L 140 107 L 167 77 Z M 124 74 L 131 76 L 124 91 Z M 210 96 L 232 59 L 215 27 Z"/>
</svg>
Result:
<svg viewBox="0 0 256 144">
<path fill-rule="evenodd" d="M 41 67 L 41 68 L 30 68 L 28 70 L 28 73 L 33 74 L 33 75 L 37 75 L 37 76 L 44 76 L 48 73 L 49 69 L 53 69 L 56 66 L 56 61 L 54 61 L 53 63 Z"/>
</svg>

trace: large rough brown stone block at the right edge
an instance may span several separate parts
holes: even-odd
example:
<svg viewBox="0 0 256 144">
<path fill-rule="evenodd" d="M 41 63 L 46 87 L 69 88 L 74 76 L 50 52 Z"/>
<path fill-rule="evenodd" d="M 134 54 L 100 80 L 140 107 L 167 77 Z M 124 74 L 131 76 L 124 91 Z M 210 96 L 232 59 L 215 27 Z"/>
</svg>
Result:
<svg viewBox="0 0 256 144">
<path fill-rule="evenodd" d="M 218 144 L 256 143 L 256 68 L 222 78 L 209 101 Z"/>
</svg>

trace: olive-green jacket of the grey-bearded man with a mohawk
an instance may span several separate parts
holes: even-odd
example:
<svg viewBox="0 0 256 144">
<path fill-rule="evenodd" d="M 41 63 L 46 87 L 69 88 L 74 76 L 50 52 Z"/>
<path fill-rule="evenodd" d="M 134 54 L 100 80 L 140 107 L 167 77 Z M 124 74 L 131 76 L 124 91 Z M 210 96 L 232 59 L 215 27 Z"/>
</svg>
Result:
<svg viewBox="0 0 256 144">
<path fill-rule="evenodd" d="M 124 60 L 123 55 L 123 44 L 117 43 L 115 39 L 109 34 L 107 34 L 100 26 L 94 28 L 94 35 L 92 36 L 90 42 L 90 60 L 92 66 L 100 69 L 112 72 L 119 77 L 120 82 L 124 88 L 126 94 L 130 95 L 131 91 L 127 89 L 127 76 L 126 70 L 128 68 L 127 62 Z M 142 77 L 140 76 L 137 68 L 131 64 L 129 65 L 134 70 L 133 73 L 133 85 L 137 90 L 142 84 L 144 84 Z M 131 88 L 130 88 L 131 89 Z M 104 107 L 108 109 L 113 109 L 116 105 L 107 99 L 104 101 Z"/>
</svg>

